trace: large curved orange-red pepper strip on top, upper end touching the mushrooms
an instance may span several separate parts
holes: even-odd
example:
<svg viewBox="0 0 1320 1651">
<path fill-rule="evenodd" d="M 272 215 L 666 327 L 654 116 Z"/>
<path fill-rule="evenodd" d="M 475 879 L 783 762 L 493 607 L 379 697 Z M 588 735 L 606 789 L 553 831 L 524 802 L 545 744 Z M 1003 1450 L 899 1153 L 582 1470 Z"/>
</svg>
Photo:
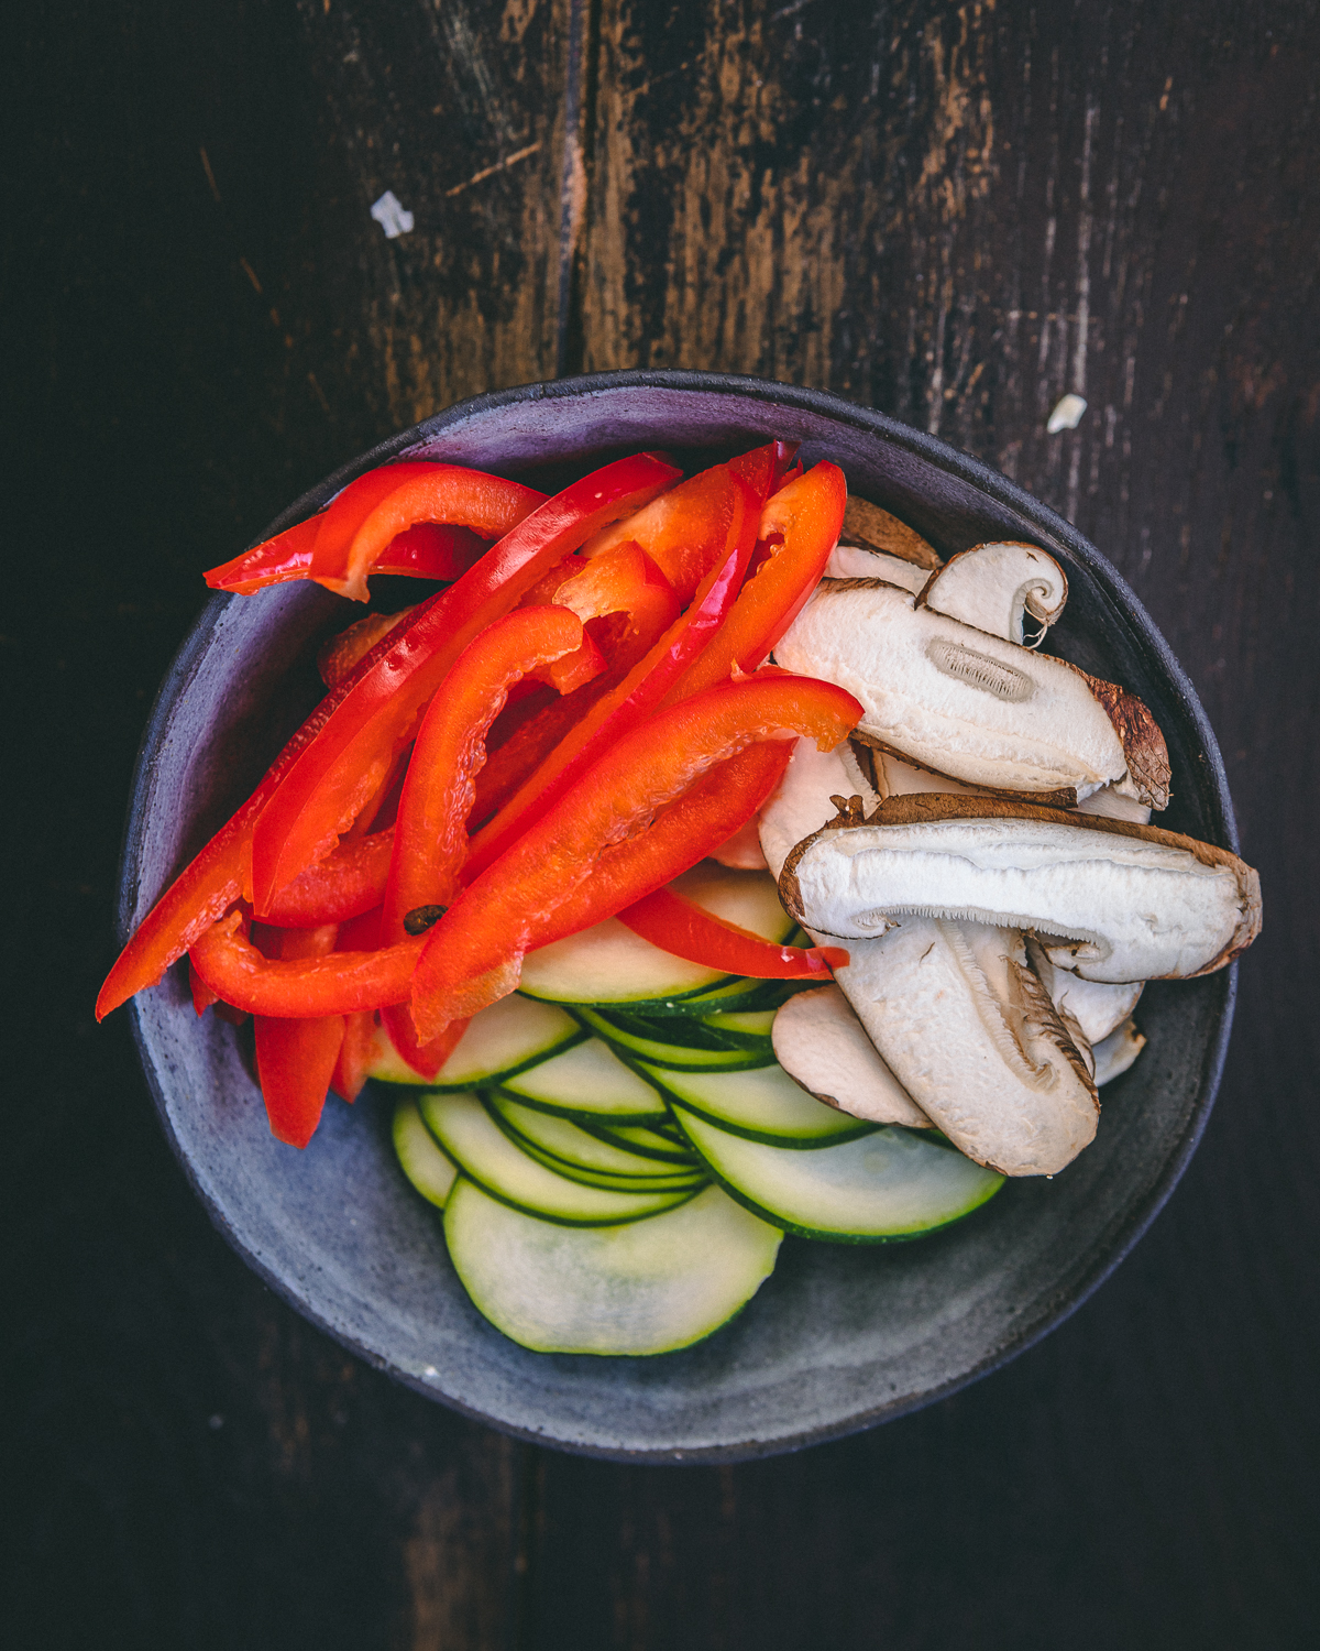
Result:
<svg viewBox="0 0 1320 1651">
<path fill-rule="evenodd" d="M 601 855 L 645 832 L 716 763 L 797 735 L 833 750 L 860 717 L 853 695 L 833 684 L 776 675 L 708 688 L 624 735 L 431 930 L 412 982 L 417 1035 L 432 1038 L 515 991 L 523 954 L 541 944 Z"/>
</svg>

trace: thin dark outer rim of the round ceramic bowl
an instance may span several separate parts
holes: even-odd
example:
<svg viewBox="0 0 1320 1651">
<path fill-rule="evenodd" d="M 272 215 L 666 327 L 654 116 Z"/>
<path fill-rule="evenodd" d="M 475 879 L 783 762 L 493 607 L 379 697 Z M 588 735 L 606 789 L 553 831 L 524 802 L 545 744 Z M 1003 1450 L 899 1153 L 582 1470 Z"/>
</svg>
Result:
<svg viewBox="0 0 1320 1651">
<path fill-rule="evenodd" d="M 828 418 L 835 423 L 850 426 L 860 433 L 879 438 L 914 457 L 934 466 L 936 469 L 954 475 L 955 479 L 965 482 L 972 489 L 988 495 L 1000 507 L 1011 510 L 1015 515 L 1021 517 L 1033 528 L 1036 528 L 1041 537 L 1053 540 L 1059 548 L 1063 548 L 1069 556 L 1084 565 L 1087 571 L 1096 578 L 1096 581 L 1104 586 L 1106 593 L 1114 599 L 1117 611 L 1127 617 L 1132 616 L 1135 622 L 1130 624 L 1134 634 L 1140 636 L 1142 647 L 1153 650 L 1158 660 L 1158 669 L 1165 677 L 1172 693 L 1178 698 L 1181 710 L 1190 718 L 1196 740 L 1200 741 L 1201 753 L 1206 763 L 1204 779 L 1208 781 L 1208 796 L 1211 801 L 1211 819 L 1214 830 L 1211 835 L 1219 842 L 1221 847 L 1238 852 L 1238 826 L 1233 809 L 1233 799 L 1228 786 L 1228 774 L 1224 769 L 1223 756 L 1219 753 L 1219 745 L 1214 738 L 1214 731 L 1209 725 L 1209 718 L 1196 695 L 1196 690 L 1175 657 L 1172 647 L 1163 637 L 1163 632 L 1153 622 L 1145 606 L 1122 578 L 1122 575 L 1114 568 L 1114 565 L 1094 546 L 1091 542 L 1077 532 L 1069 522 L 1059 517 L 1049 505 L 1035 499 L 1018 484 L 1011 482 L 1000 471 L 992 469 L 982 459 L 952 446 L 952 442 L 944 441 L 939 436 L 932 436 L 926 431 L 916 429 L 909 424 L 903 424 L 898 419 L 878 413 L 873 408 L 860 406 L 858 403 L 848 401 L 843 396 L 835 395 L 827 390 L 812 390 L 795 385 L 785 385 L 769 378 L 756 378 L 738 373 L 713 373 L 713 371 L 695 371 L 695 370 L 627 370 L 627 371 L 601 371 L 601 373 L 582 373 L 573 378 L 546 380 L 528 385 L 516 385 L 507 390 L 487 391 L 477 396 L 469 396 L 462 401 L 455 401 L 449 408 L 431 414 L 429 418 L 409 426 L 408 429 L 398 431 L 396 434 L 378 442 L 375 447 L 355 459 L 342 464 L 337 471 L 327 475 L 323 480 L 317 482 L 314 487 L 307 489 L 299 499 L 287 505 L 274 522 L 256 538 L 252 543 L 261 543 L 272 535 L 284 532 L 287 527 L 302 522 L 314 510 L 325 505 L 337 492 L 340 492 L 348 482 L 361 475 L 365 471 L 384 464 L 391 459 L 401 457 L 409 451 L 426 446 L 436 436 L 442 434 L 447 428 L 480 418 L 483 413 L 495 411 L 498 408 L 512 404 L 526 404 L 538 401 L 556 401 L 556 400 L 576 400 L 594 396 L 599 393 L 607 393 L 614 390 L 668 390 L 668 391 L 696 391 L 703 395 L 728 395 L 738 396 L 751 401 L 761 401 L 774 406 L 787 406 L 800 409 L 805 413 L 813 413 L 817 416 Z M 231 601 L 239 598 L 231 593 L 216 593 L 201 608 L 196 619 L 193 621 L 188 634 L 180 644 L 165 677 L 162 679 L 160 688 L 157 690 L 155 700 L 152 703 L 147 723 L 144 726 L 142 741 L 137 753 L 137 761 L 134 764 L 132 788 L 129 799 L 129 811 L 124 824 L 124 837 L 120 847 L 119 860 L 119 878 L 117 878 L 117 906 L 116 906 L 116 931 L 119 944 L 125 944 L 132 931 L 132 915 L 137 900 L 139 877 L 142 870 L 142 842 L 144 842 L 144 824 L 147 814 L 147 799 L 150 792 L 150 769 L 153 755 L 160 745 L 160 738 L 168 725 L 175 700 L 183 692 L 183 688 L 191 680 L 196 665 L 205 654 L 210 634 L 216 624 L 219 614 L 228 608 Z M 853 1433 L 861 1433 L 870 1428 L 881 1425 L 883 1422 L 896 1420 L 903 1415 L 911 1415 L 916 1410 L 922 1410 L 927 1405 L 937 1403 L 942 1398 L 949 1398 L 974 1382 L 982 1380 L 982 1377 L 1002 1369 L 1010 1360 L 1016 1359 L 1020 1354 L 1035 1347 L 1036 1342 L 1043 1341 L 1048 1334 L 1058 1329 L 1068 1317 L 1071 1317 L 1094 1293 L 1099 1286 L 1110 1276 L 1110 1273 L 1119 1266 L 1120 1261 L 1127 1258 L 1132 1248 L 1143 1237 L 1147 1228 L 1152 1225 L 1155 1217 L 1160 1213 L 1163 1205 L 1168 1202 L 1173 1189 L 1186 1171 L 1193 1152 L 1200 1146 L 1201 1136 L 1204 1134 L 1209 1114 L 1214 1108 L 1214 1098 L 1219 1088 L 1219 1081 L 1224 1070 L 1224 1060 L 1228 1055 L 1229 1035 L 1233 1030 L 1233 1017 L 1238 996 L 1238 963 L 1229 964 L 1228 969 L 1219 976 L 1223 982 L 1223 1004 L 1218 1012 L 1216 1034 L 1206 1048 L 1201 1081 L 1198 1090 L 1198 1101 L 1188 1114 L 1186 1126 L 1176 1147 L 1168 1154 L 1163 1167 L 1157 1179 L 1152 1182 L 1143 1200 L 1134 1207 L 1122 1225 L 1110 1237 L 1109 1247 L 1099 1253 L 1092 1263 L 1074 1280 L 1071 1291 L 1063 1298 L 1044 1306 L 1033 1319 L 1016 1327 L 1011 1336 L 1002 1339 L 993 1346 L 983 1359 L 974 1364 L 970 1369 L 960 1370 L 957 1375 L 949 1377 L 944 1382 L 932 1385 L 931 1388 L 909 1395 L 899 1400 L 889 1400 L 888 1403 L 876 1403 L 865 1410 L 856 1412 L 846 1418 L 822 1423 L 817 1426 L 804 1428 L 802 1431 L 790 1435 L 779 1435 L 772 1440 L 764 1438 L 747 1438 L 731 1445 L 718 1446 L 696 1446 L 683 1450 L 629 1450 L 607 1445 L 596 1445 L 589 1441 L 578 1440 L 559 1440 L 549 1438 L 544 1433 L 518 1426 L 505 1418 L 495 1418 L 488 1413 L 464 1403 L 437 1390 L 424 1379 L 416 1377 L 409 1370 L 403 1370 L 394 1365 L 388 1357 L 365 1347 L 350 1332 L 332 1324 L 325 1316 L 322 1316 L 315 1306 L 299 1296 L 292 1283 L 267 1266 L 259 1260 L 241 1240 L 239 1233 L 234 1232 L 229 1223 L 224 1209 L 214 1200 L 208 1190 L 201 1185 L 196 1169 L 191 1159 L 183 1151 L 182 1141 L 177 1138 L 173 1128 L 170 1126 L 168 1109 L 165 1095 L 160 1085 L 160 1075 L 155 1070 L 155 1063 L 148 1055 L 147 1040 L 142 1027 L 139 1004 L 134 999 L 130 1002 L 130 1024 L 134 1032 L 134 1042 L 137 1045 L 139 1058 L 142 1062 L 144 1075 L 147 1078 L 147 1086 L 152 1093 L 152 1100 L 157 1109 L 157 1116 L 170 1144 L 170 1151 L 178 1161 L 183 1174 L 191 1187 L 193 1194 L 201 1200 L 211 1223 L 219 1230 L 229 1247 L 243 1258 L 244 1265 L 249 1266 L 269 1289 L 279 1294 L 289 1303 L 302 1317 L 309 1319 L 317 1329 L 323 1331 L 342 1347 L 348 1349 L 356 1357 L 363 1359 L 366 1364 L 378 1370 L 386 1372 L 394 1380 L 422 1393 L 432 1402 L 439 1402 L 447 1408 L 469 1417 L 470 1420 L 482 1422 L 488 1426 L 497 1428 L 513 1438 L 525 1440 L 535 1445 L 548 1445 L 556 1450 L 564 1450 L 571 1455 L 591 1456 L 607 1461 L 627 1461 L 627 1463 L 733 1463 L 747 1461 L 766 1456 L 784 1455 L 790 1451 L 805 1450 L 812 1445 L 828 1443 L 832 1440 L 848 1438 Z"/>
</svg>

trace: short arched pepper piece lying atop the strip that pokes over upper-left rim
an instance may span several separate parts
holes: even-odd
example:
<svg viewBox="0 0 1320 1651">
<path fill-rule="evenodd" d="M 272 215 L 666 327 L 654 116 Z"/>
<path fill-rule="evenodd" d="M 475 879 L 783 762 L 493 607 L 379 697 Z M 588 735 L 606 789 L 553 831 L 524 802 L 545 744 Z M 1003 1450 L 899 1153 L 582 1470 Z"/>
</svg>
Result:
<svg viewBox="0 0 1320 1651">
<path fill-rule="evenodd" d="M 366 601 L 366 575 L 399 533 L 419 523 L 467 527 L 482 538 L 505 538 L 544 507 L 546 495 L 500 475 L 460 464 L 429 464 L 384 494 L 361 520 L 346 546 L 342 535 L 322 533 L 312 551 L 312 578 L 328 591 Z M 576 545 L 571 548 L 578 548 Z"/>
</svg>

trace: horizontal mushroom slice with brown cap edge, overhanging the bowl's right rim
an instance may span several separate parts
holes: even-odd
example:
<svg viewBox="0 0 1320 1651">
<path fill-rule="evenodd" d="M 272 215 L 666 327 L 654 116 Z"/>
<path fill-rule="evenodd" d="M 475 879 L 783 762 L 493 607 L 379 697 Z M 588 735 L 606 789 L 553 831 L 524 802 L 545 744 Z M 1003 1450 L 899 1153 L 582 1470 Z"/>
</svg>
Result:
<svg viewBox="0 0 1320 1651">
<path fill-rule="evenodd" d="M 1208 974 L 1261 928 L 1261 882 L 1226 849 L 995 797 L 889 797 L 861 826 L 840 816 L 789 854 L 779 896 L 846 939 L 912 913 L 1031 930 L 1056 967 L 1110 984 Z"/>
</svg>

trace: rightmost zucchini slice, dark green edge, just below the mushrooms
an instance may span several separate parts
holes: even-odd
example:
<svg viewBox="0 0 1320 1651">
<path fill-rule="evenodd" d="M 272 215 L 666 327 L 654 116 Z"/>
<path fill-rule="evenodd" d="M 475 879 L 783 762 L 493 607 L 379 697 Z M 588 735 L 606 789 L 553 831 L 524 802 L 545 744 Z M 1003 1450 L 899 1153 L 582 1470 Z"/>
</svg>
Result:
<svg viewBox="0 0 1320 1651">
<path fill-rule="evenodd" d="M 675 1111 L 733 1197 L 804 1238 L 914 1238 L 970 1215 L 1003 1185 L 993 1169 L 893 1124 L 818 1152 L 785 1152 Z"/>
</svg>

